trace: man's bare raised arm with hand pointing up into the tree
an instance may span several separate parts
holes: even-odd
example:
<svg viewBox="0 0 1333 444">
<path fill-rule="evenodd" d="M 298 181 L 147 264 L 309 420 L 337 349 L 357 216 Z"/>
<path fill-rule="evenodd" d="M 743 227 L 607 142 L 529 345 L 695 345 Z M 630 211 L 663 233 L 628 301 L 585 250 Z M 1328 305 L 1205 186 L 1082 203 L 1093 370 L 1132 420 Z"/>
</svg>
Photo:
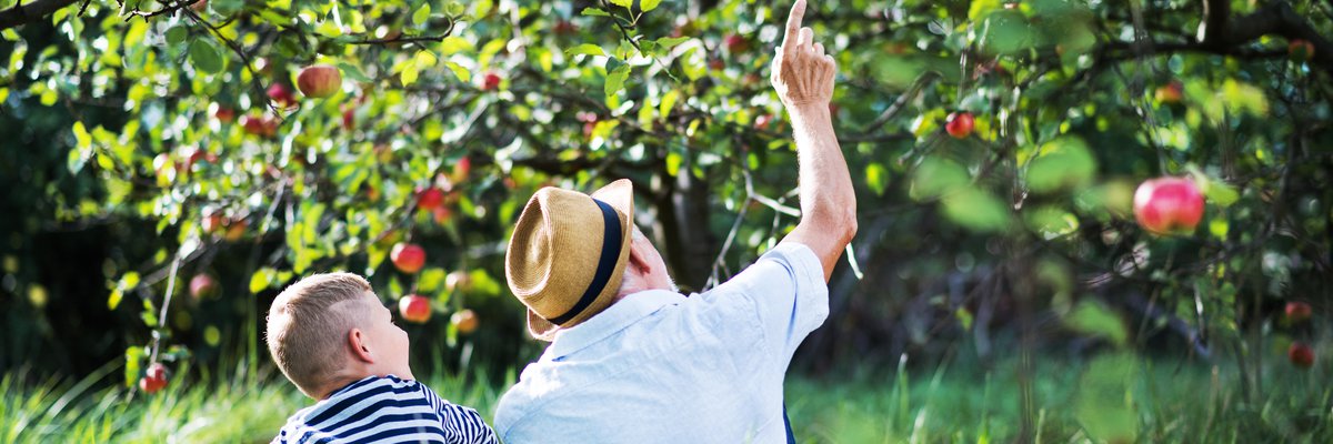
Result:
<svg viewBox="0 0 1333 444">
<path fill-rule="evenodd" d="M 801 28 L 804 16 L 805 0 L 796 0 L 773 59 L 773 88 L 792 117 L 800 163 L 801 221 L 782 241 L 814 251 L 828 281 L 856 235 L 856 192 L 829 115 L 837 64 L 814 43 L 814 31 Z"/>
</svg>

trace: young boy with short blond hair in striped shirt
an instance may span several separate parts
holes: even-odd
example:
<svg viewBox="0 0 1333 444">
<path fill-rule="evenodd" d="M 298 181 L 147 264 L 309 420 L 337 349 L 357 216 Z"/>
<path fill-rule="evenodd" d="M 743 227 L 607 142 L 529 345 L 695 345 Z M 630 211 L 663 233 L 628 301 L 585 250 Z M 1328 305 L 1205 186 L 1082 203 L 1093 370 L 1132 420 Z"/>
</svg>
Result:
<svg viewBox="0 0 1333 444">
<path fill-rule="evenodd" d="M 268 351 L 319 400 L 275 443 L 497 443 L 477 411 L 413 380 L 408 335 L 361 276 L 315 275 L 284 289 L 268 309 Z"/>
</svg>

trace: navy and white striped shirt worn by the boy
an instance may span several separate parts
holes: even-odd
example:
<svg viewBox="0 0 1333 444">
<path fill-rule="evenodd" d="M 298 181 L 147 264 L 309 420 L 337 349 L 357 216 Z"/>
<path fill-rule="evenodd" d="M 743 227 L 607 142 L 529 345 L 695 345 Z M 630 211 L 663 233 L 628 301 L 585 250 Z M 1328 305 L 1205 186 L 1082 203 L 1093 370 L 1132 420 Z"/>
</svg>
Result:
<svg viewBox="0 0 1333 444">
<path fill-rule="evenodd" d="M 273 443 L 496 444 L 477 411 L 455 405 L 425 384 L 369 376 L 287 420 Z"/>
</svg>

